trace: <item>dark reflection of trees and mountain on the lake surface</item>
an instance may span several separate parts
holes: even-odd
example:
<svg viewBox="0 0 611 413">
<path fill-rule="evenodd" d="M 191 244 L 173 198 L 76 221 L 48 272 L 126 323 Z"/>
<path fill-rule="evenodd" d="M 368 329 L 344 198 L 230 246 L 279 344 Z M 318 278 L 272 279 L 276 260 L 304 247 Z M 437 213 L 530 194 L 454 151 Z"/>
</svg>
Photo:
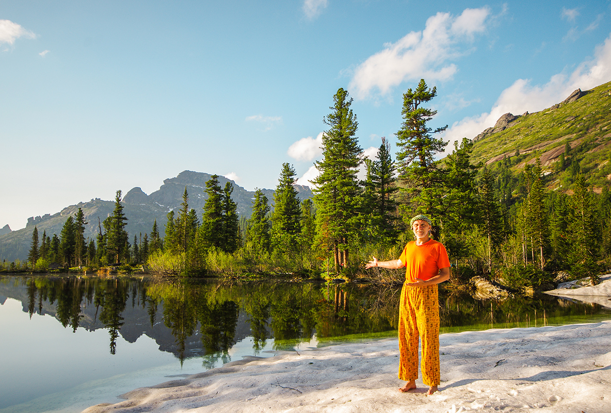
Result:
<svg viewBox="0 0 611 413">
<path fill-rule="evenodd" d="M 229 361 L 236 341 L 252 337 L 254 354 L 273 339 L 287 349 L 316 334 L 375 337 L 397 329 L 399 287 L 321 283 L 174 281 L 125 278 L 3 277 L 0 296 L 20 299 L 32 314 L 50 313 L 76 332 L 106 328 L 109 351 L 122 335 L 145 334 L 182 362 L 200 355 L 205 366 Z M 20 297 L 20 294 L 27 297 Z M 442 332 L 537 327 L 596 321 L 611 310 L 558 297 L 476 300 L 441 291 Z M 163 325 L 160 325 L 163 324 Z M 392 333 L 388 333 L 392 335 Z"/>
</svg>

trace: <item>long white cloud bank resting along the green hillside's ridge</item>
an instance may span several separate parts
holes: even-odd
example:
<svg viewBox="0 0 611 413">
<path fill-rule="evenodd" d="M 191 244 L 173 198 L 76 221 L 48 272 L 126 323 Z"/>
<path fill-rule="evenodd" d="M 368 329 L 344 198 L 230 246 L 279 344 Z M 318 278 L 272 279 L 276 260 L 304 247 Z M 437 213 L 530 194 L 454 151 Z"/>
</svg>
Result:
<svg viewBox="0 0 611 413">
<path fill-rule="evenodd" d="M 585 91 L 610 80 L 611 35 L 596 47 L 595 58 L 582 62 L 571 75 L 554 75 L 543 86 L 533 86 L 530 80 L 518 79 L 500 94 L 489 113 L 455 122 L 443 135 L 445 141 L 450 142 L 447 151 L 452 151 L 453 141 L 461 141 L 464 137 L 473 139 L 485 128 L 494 126 L 502 114 L 540 111 L 562 102 L 576 89 Z"/>
</svg>

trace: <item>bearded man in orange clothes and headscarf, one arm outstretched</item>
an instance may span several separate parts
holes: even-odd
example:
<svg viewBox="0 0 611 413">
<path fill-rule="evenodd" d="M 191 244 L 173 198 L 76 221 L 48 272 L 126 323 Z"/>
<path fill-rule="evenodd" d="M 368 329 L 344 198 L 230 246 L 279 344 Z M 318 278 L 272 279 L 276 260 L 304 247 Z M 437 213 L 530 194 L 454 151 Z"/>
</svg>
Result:
<svg viewBox="0 0 611 413">
<path fill-rule="evenodd" d="M 406 267 L 399 308 L 399 378 L 407 383 L 399 390 L 416 388 L 418 378 L 418 341 L 422 338 L 422 381 L 432 395 L 439 385 L 439 296 L 437 284 L 450 278 L 450 260 L 445 247 L 430 237 L 432 222 L 416 215 L 410 222 L 415 241 L 403 249 L 399 259 L 378 261 L 375 257 L 365 268 L 397 269 Z"/>
</svg>

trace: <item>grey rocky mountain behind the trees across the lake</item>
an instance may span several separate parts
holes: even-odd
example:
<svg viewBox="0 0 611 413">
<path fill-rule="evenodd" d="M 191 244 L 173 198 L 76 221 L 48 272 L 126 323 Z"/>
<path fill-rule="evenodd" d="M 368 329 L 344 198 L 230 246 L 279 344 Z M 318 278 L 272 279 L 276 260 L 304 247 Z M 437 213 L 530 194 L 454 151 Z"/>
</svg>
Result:
<svg viewBox="0 0 611 413">
<path fill-rule="evenodd" d="M 130 234 L 130 243 L 133 242 L 134 235 L 139 237 L 140 234 L 144 236 L 145 233 L 150 233 L 155 219 L 160 235 L 164 236 L 166 215 L 170 210 L 180 209 L 185 187 L 189 194 L 189 207 L 195 209 L 201 218 L 203 205 L 208 199 L 208 195 L 205 193 L 206 182 L 210 180 L 210 177 L 211 175 L 207 173 L 183 171 L 174 178 L 165 179 L 159 190 L 150 195 L 142 192 L 139 187 L 132 188 L 125 193 L 123 195 L 123 212 L 128 218 L 125 229 Z M 232 199 L 238 206 L 238 214 L 250 218 L 254 192 L 247 191 L 224 176 L 219 176 L 218 180 L 222 188 L 225 187 L 226 182 L 233 184 Z M 312 197 L 312 191 L 309 187 L 295 185 L 295 188 L 299 192 L 300 199 Z M 262 192 L 268 197 L 269 203 L 272 204 L 274 190 L 262 189 Z M 26 259 L 34 226 L 38 229 L 39 239 L 42 239 L 43 231 L 46 231 L 46 234 L 51 237 L 53 234 L 59 236 L 68 216 L 74 216 L 79 208 L 82 209 L 85 220 L 88 222 L 84 233 L 85 238 L 95 239 L 99 231 L 99 223 L 112 214 L 114 201 L 103 201 L 100 198 L 95 198 L 86 203 L 81 202 L 65 207 L 53 215 L 45 214 L 27 218 L 26 228 L 0 235 L 0 259 L 9 262 L 15 261 L 15 259 Z"/>
</svg>

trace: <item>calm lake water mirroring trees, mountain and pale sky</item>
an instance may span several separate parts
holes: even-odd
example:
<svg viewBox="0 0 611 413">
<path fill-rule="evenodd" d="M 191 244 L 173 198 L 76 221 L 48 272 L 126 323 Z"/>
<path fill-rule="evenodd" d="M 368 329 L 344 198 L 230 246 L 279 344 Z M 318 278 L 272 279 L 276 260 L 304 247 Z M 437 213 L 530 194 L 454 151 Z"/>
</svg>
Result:
<svg viewBox="0 0 611 413">
<path fill-rule="evenodd" d="M 287 281 L 0 277 L 0 413 L 80 412 L 244 355 L 392 337 L 399 288 Z M 442 333 L 611 319 L 552 296 L 440 292 Z"/>
</svg>

